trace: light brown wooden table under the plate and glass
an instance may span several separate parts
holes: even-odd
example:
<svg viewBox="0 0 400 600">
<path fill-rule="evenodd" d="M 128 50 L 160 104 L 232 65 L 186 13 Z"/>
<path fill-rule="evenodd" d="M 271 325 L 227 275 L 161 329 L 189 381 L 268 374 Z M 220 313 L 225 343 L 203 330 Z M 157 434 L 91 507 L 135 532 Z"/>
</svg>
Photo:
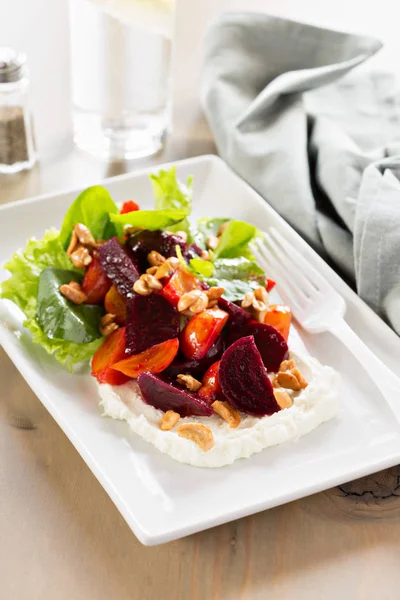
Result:
<svg viewBox="0 0 400 600">
<path fill-rule="evenodd" d="M 204 1 L 193 15 L 193 5 L 182 3 L 175 130 L 152 163 L 215 150 L 196 87 L 200 40 L 214 4 Z M 256 1 L 252 6 L 266 4 L 278 6 Z M 304 18 L 328 24 L 329 11 L 328 17 L 324 12 L 315 18 L 318 4 L 304 1 Z M 339 4 L 344 10 L 348 3 Z M 330 9 L 331 24 L 341 23 L 339 4 Z M 355 4 L 360 8 L 360 2 Z M 7 28 L 0 24 L 0 34 L 5 43 L 18 45 L 23 40 L 31 59 L 41 161 L 31 173 L 0 178 L 1 203 L 64 186 L 83 187 L 149 162 L 109 166 L 72 148 L 68 82 L 60 70 L 67 60 L 66 3 L 37 0 L 32 5 L 14 0 Z M 302 16 L 290 1 L 279 6 L 281 13 Z M 24 19 L 17 20 L 22 10 Z M 349 26 L 359 23 L 354 6 L 353 10 Z M 374 20 L 368 10 L 362 13 L 364 20 L 365 14 Z M 51 27 L 43 38 L 29 35 L 32 23 L 43 14 Z M 194 17 L 196 27 L 182 28 Z M 382 25 L 378 14 L 375 20 Z M 46 53 L 55 44 L 54 66 Z M 145 548 L 2 351 L 0 382 L 0 598 L 393 600 L 400 596 L 400 468 Z"/>
</svg>

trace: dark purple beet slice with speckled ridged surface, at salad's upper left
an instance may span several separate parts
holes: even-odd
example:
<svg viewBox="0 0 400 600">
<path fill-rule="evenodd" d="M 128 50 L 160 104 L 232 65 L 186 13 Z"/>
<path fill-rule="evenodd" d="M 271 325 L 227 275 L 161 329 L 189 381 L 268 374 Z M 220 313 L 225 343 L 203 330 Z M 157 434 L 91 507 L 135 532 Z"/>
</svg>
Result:
<svg viewBox="0 0 400 600">
<path fill-rule="evenodd" d="M 134 295 L 133 284 L 140 277 L 137 265 L 122 248 L 117 238 L 111 238 L 99 248 L 100 264 L 107 277 L 125 298 Z"/>
</svg>

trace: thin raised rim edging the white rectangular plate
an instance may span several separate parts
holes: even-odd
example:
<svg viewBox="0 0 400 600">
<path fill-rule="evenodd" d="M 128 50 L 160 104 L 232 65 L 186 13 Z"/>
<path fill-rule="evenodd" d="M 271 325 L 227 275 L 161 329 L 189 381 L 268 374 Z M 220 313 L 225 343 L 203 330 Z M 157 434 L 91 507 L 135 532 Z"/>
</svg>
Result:
<svg viewBox="0 0 400 600">
<path fill-rule="evenodd" d="M 269 209 L 272 210 L 275 213 L 275 215 L 278 217 L 281 225 L 285 229 L 290 231 L 290 236 L 292 238 L 291 243 L 293 243 L 294 240 L 296 240 L 297 245 L 300 245 L 303 248 L 307 248 L 307 253 L 311 252 L 312 255 L 314 256 L 314 259 L 316 261 L 318 261 L 318 263 L 321 266 L 323 266 L 323 269 L 325 269 L 325 271 L 328 269 L 331 277 L 334 276 L 336 283 L 338 283 L 340 285 L 340 287 L 345 286 L 345 288 L 347 288 L 346 291 L 347 291 L 347 293 L 350 293 L 350 295 L 353 297 L 354 302 L 360 303 L 364 311 L 365 311 L 365 309 L 368 310 L 370 316 L 373 318 L 373 326 L 378 327 L 382 331 L 382 335 L 390 334 L 390 336 L 393 336 L 392 341 L 397 340 L 397 343 L 399 344 L 399 349 L 400 349 L 400 338 L 396 335 L 396 333 L 394 331 L 392 331 L 390 329 L 390 327 L 370 307 L 368 307 L 368 305 L 359 296 L 357 296 L 357 294 L 350 288 L 350 286 L 345 281 L 343 281 L 341 279 L 341 277 L 339 275 L 337 275 L 337 273 L 335 273 L 335 271 L 332 269 L 332 267 L 330 267 L 313 250 L 313 248 L 282 217 L 280 217 L 280 215 L 273 209 L 273 207 L 271 207 L 268 204 L 268 202 L 266 200 L 264 200 L 258 194 L 258 192 L 256 192 L 245 180 L 240 178 L 229 167 L 229 165 L 227 165 L 225 163 L 225 161 L 223 161 L 218 156 L 213 155 L 213 154 L 206 154 L 206 155 L 191 157 L 191 158 L 187 158 L 187 159 L 183 159 L 183 160 L 179 160 L 179 161 L 171 161 L 171 162 L 163 163 L 160 165 L 144 167 L 144 168 L 135 170 L 130 173 L 124 173 L 122 175 L 118 175 L 115 177 L 105 178 L 101 182 L 97 182 L 96 184 L 97 185 L 110 185 L 110 184 L 113 184 L 114 182 L 135 179 L 137 177 L 146 175 L 148 173 L 152 173 L 156 169 L 168 168 L 168 167 L 175 166 L 175 165 L 177 166 L 177 168 L 179 168 L 180 166 L 190 166 L 191 164 L 199 164 L 199 163 L 209 163 L 210 166 L 217 165 L 218 168 L 225 169 L 225 171 L 227 173 L 229 173 L 230 176 L 233 176 L 241 181 L 241 184 L 245 186 L 245 188 L 243 188 L 243 189 L 246 189 L 246 191 L 248 193 L 251 193 L 252 201 L 257 202 L 257 204 L 259 206 L 263 206 L 263 205 L 267 204 Z M 87 187 L 87 186 L 85 186 L 85 187 Z M 82 189 L 83 189 L 83 186 L 74 186 L 69 189 L 64 189 L 61 191 L 48 192 L 45 194 L 32 196 L 32 197 L 29 197 L 26 199 L 8 202 L 8 203 L 0 206 L 0 216 L 3 216 L 5 213 L 7 213 L 7 211 L 13 210 L 15 207 L 18 208 L 18 207 L 24 206 L 24 205 L 31 205 L 36 202 L 48 200 L 50 198 L 57 199 L 60 196 L 76 193 L 76 192 L 81 191 Z M 3 270 L 3 267 L 0 267 L 0 268 Z M 325 275 L 325 273 L 324 273 L 324 275 Z M 0 322 L 0 325 L 1 325 L 1 322 Z M 282 505 L 282 504 L 285 504 L 290 501 L 294 501 L 296 499 L 308 496 L 313 493 L 321 492 L 323 490 L 328 489 L 329 487 L 339 485 L 340 483 L 343 483 L 344 481 L 350 481 L 354 478 L 358 478 L 363 475 L 367 475 L 369 473 L 375 472 L 376 470 L 394 466 L 400 462 L 400 447 L 399 447 L 399 449 L 396 450 L 396 452 L 393 452 L 390 456 L 388 456 L 386 460 L 379 459 L 376 461 L 376 463 L 374 463 L 374 465 L 372 467 L 371 467 L 371 463 L 369 463 L 369 465 L 367 465 L 363 468 L 358 467 L 353 470 L 350 469 L 351 476 L 349 478 L 347 478 L 348 475 L 346 475 L 345 477 L 343 477 L 343 476 L 340 477 L 340 475 L 337 475 L 336 477 L 333 477 L 331 479 L 329 479 L 329 478 L 324 479 L 323 482 L 320 484 L 311 483 L 311 484 L 305 485 L 304 487 L 301 488 L 301 490 L 298 491 L 298 493 L 293 494 L 293 492 L 292 493 L 288 492 L 288 493 L 286 493 L 287 497 L 284 498 L 283 500 L 281 498 L 275 498 L 276 501 L 272 500 L 272 502 L 271 502 L 271 500 L 266 500 L 264 502 L 258 502 L 257 505 L 254 505 L 254 504 L 250 505 L 250 506 L 247 505 L 245 508 L 243 508 L 241 510 L 238 510 L 238 509 L 233 510 L 232 509 L 230 512 L 224 513 L 223 515 L 219 515 L 219 516 L 217 515 L 216 517 L 210 518 L 206 522 L 203 519 L 201 521 L 200 526 L 199 526 L 199 523 L 196 522 L 196 523 L 193 523 L 191 526 L 183 525 L 181 528 L 175 527 L 175 529 L 173 529 L 173 530 L 168 530 L 159 535 L 155 535 L 155 534 L 147 531 L 146 528 L 144 528 L 140 524 L 140 522 L 135 519 L 134 513 L 130 510 L 130 507 L 126 506 L 126 504 L 123 502 L 122 495 L 115 488 L 114 484 L 108 479 L 108 477 L 104 473 L 104 471 L 102 471 L 101 466 L 98 464 L 96 458 L 91 454 L 91 452 L 85 446 L 84 442 L 81 441 L 80 437 L 76 436 L 76 434 L 73 431 L 73 427 L 70 426 L 68 424 L 68 422 L 66 422 L 64 417 L 57 411 L 57 407 L 52 405 L 50 399 L 48 399 L 47 393 L 40 389 L 39 379 L 34 381 L 33 372 L 30 369 L 28 359 L 25 357 L 24 353 L 18 353 L 18 348 L 17 348 L 16 344 L 13 345 L 11 342 L 9 342 L 7 340 L 7 334 L 4 333 L 3 326 L 0 327 L 0 344 L 3 346 L 5 352 L 8 354 L 8 356 L 12 360 L 13 364 L 16 366 L 18 372 L 26 380 L 29 387 L 37 395 L 37 397 L 40 399 L 40 401 L 43 403 L 43 405 L 49 411 L 49 413 L 52 415 L 52 417 L 55 419 L 55 421 L 59 424 L 59 426 L 64 431 L 64 433 L 67 435 L 67 437 L 69 438 L 69 440 L 71 441 L 73 446 L 76 448 L 76 450 L 79 452 L 79 454 L 81 455 L 83 460 L 86 462 L 86 464 L 88 465 L 88 467 L 90 468 L 92 473 L 95 475 L 95 477 L 99 481 L 100 485 L 102 485 L 102 487 L 105 489 L 106 493 L 110 496 L 112 502 L 116 505 L 118 510 L 121 512 L 124 519 L 127 521 L 127 524 L 132 529 L 133 533 L 144 545 L 151 546 L 151 545 L 156 545 L 156 544 L 160 544 L 160 543 L 165 543 L 165 542 L 168 542 L 168 541 L 171 541 L 174 539 L 178 539 L 180 537 L 190 535 L 197 531 L 202 531 L 204 529 L 208 529 L 210 527 L 214 527 L 214 526 L 220 525 L 222 523 L 229 522 L 233 519 L 242 518 L 242 517 L 245 517 L 245 516 L 248 516 L 251 514 L 255 514 L 262 510 L 272 508 L 274 506 L 278 506 L 278 505 Z M 25 364 L 25 362 L 26 362 L 26 364 Z M 349 471 L 347 471 L 347 474 L 348 473 L 349 473 Z M 328 483 L 328 479 L 329 479 L 329 483 Z"/>
</svg>

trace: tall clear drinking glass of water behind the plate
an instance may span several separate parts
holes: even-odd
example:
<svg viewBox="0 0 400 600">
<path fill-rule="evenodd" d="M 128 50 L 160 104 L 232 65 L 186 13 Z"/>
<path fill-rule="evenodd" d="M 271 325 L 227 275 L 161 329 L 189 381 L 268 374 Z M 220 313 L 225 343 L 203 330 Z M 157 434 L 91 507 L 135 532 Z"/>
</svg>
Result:
<svg viewBox="0 0 400 600">
<path fill-rule="evenodd" d="M 175 0 L 69 0 L 74 141 L 96 156 L 155 154 L 171 115 Z"/>
</svg>

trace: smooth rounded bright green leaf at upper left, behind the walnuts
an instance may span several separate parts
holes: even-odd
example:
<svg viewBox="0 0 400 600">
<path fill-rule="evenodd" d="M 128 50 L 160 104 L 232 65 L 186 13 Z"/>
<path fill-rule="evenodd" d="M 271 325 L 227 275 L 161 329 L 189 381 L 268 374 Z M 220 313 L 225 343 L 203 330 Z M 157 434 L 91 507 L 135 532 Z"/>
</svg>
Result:
<svg viewBox="0 0 400 600">
<path fill-rule="evenodd" d="M 118 213 L 118 207 L 106 188 L 101 185 L 87 188 L 66 212 L 60 231 L 62 246 L 68 246 L 76 223 L 86 225 L 96 240 L 108 240 L 114 235 L 121 235 L 121 228 L 110 222 L 110 215 Z"/>
</svg>

